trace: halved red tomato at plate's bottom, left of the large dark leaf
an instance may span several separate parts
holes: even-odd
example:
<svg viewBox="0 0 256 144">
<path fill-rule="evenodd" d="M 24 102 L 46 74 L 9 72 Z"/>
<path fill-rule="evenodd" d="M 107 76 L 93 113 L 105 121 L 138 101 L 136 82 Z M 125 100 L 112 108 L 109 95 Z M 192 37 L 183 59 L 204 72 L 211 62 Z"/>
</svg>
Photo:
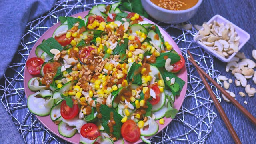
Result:
<svg viewBox="0 0 256 144">
<path fill-rule="evenodd" d="M 84 138 L 88 138 L 90 140 L 95 140 L 98 136 L 100 136 L 98 127 L 93 123 L 84 124 L 80 133 Z"/>
</svg>

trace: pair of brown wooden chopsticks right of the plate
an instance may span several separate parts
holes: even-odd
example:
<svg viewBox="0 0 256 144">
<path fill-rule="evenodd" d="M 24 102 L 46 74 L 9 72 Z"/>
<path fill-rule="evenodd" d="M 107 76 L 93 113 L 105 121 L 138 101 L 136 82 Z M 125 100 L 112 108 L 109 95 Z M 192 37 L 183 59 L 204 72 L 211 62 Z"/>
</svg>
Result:
<svg viewBox="0 0 256 144">
<path fill-rule="evenodd" d="M 248 112 L 241 104 L 239 104 L 232 96 L 230 96 L 230 94 L 228 94 L 228 92 L 226 92 L 226 90 L 224 90 L 217 82 L 215 82 L 208 74 L 206 74 L 206 72 L 204 72 L 204 70 L 202 70 L 196 64 L 196 62 L 195 62 L 192 54 L 189 52 L 189 50 L 188 50 L 188 55 L 190 56 L 190 58 L 188 58 L 188 60 L 196 67 L 196 70 L 197 70 L 199 76 L 202 78 L 202 81 L 206 87 L 206 90 L 210 94 L 210 97 L 212 98 L 218 112 L 220 113 L 222 120 L 226 124 L 228 131 L 230 132 L 232 138 L 234 139 L 234 142 L 236 144 L 242 144 L 242 142 L 240 141 L 240 139 L 238 138 L 238 136 L 236 134 L 236 131 L 234 130 L 233 126 L 231 125 L 230 121 L 228 120 L 228 117 L 226 116 L 224 110 L 222 109 L 222 106 L 218 102 L 216 96 L 212 92 L 212 89 L 210 88 L 210 86 L 209 86 L 208 82 L 206 81 L 206 79 L 204 78 L 204 76 L 210 82 L 212 82 L 212 84 L 214 84 L 214 86 L 216 86 L 216 88 L 218 88 L 218 90 L 220 90 L 220 92 L 222 94 L 224 94 L 230 100 L 230 102 L 232 104 L 234 104 L 248 119 L 250 119 L 254 125 L 256 125 L 256 118 L 254 118 L 254 116 L 252 116 L 252 114 L 250 114 L 250 112 Z"/>
</svg>

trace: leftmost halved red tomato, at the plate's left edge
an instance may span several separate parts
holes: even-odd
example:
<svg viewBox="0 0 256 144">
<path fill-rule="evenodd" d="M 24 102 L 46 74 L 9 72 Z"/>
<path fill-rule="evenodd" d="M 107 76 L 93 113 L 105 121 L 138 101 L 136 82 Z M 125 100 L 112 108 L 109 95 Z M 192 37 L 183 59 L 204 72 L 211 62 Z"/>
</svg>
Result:
<svg viewBox="0 0 256 144">
<path fill-rule="evenodd" d="M 26 62 L 28 72 L 32 75 L 40 74 L 40 70 L 43 63 L 44 63 L 44 60 L 42 60 L 42 58 L 36 58 L 36 57 L 30 58 Z"/>
</svg>

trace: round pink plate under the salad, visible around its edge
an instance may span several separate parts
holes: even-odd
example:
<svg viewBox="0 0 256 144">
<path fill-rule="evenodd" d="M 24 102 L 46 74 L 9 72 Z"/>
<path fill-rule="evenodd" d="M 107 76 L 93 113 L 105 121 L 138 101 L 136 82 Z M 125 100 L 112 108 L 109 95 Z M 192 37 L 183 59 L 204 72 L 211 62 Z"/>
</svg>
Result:
<svg viewBox="0 0 256 144">
<path fill-rule="evenodd" d="M 85 11 L 85 12 L 80 12 L 78 14 L 74 14 L 72 16 L 74 17 L 78 17 L 78 16 L 86 16 L 88 14 L 89 11 Z M 144 18 L 144 20 L 155 24 L 154 22 Z M 57 24 L 55 24 L 54 26 L 52 26 L 51 28 L 49 28 L 36 42 L 36 44 L 33 46 L 28 59 L 32 58 L 32 57 L 36 57 L 35 54 L 35 50 L 36 47 L 41 44 L 42 40 L 50 38 L 54 32 L 54 30 L 56 30 L 56 28 L 60 26 L 60 22 L 58 22 Z M 179 54 L 181 54 L 180 49 L 178 48 L 177 44 L 174 42 L 174 40 L 168 35 L 167 32 L 165 32 L 162 28 L 160 28 L 160 32 L 162 33 L 162 35 L 164 36 L 164 40 L 168 41 L 174 48 L 174 50 L 176 50 L 176 52 L 178 52 Z M 33 94 L 34 92 L 30 91 L 30 89 L 28 88 L 28 81 L 32 78 L 33 76 L 30 75 L 28 73 L 27 68 L 25 68 L 24 71 L 24 88 L 25 88 L 25 94 L 26 97 L 28 97 L 30 94 Z M 186 94 L 186 90 L 187 90 L 187 83 L 188 83 L 188 79 L 187 79 L 187 70 L 186 67 L 182 68 L 182 70 L 180 70 L 180 72 L 178 73 L 178 77 L 180 77 L 182 80 L 185 81 L 185 85 L 182 89 L 182 91 L 180 92 L 180 96 L 176 96 L 176 100 L 174 102 L 174 108 L 176 108 L 177 110 L 180 110 L 180 107 L 182 106 L 183 100 L 185 98 L 185 94 Z M 52 133 L 54 133 L 56 136 L 62 138 L 63 140 L 66 140 L 68 142 L 71 142 L 73 144 L 79 144 L 80 141 L 80 134 L 75 134 L 72 138 L 66 138 L 62 135 L 59 134 L 58 132 L 58 125 L 54 124 L 54 122 L 51 120 L 50 115 L 49 116 L 36 116 L 38 118 L 38 120 L 48 129 L 50 130 Z M 165 119 L 165 124 L 161 125 L 159 124 L 159 130 L 158 132 L 160 132 L 161 130 L 163 130 L 168 124 L 170 124 L 170 122 L 172 121 L 171 118 L 164 118 Z M 138 140 L 137 142 L 135 142 L 134 144 L 138 144 L 142 142 L 142 140 Z M 124 140 L 125 144 L 131 144 L 130 142 Z M 115 142 L 115 144 L 118 144 L 118 142 Z"/>
</svg>

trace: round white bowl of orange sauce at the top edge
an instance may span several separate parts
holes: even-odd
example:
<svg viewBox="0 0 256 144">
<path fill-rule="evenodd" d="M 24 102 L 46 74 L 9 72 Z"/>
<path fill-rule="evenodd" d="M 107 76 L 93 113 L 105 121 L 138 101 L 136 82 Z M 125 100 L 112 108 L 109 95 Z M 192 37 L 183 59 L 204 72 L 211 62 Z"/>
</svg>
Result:
<svg viewBox="0 0 256 144">
<path fill-rule="evenodd" d="M 192 18 L 194 14 L 196 14 L 196 11 L 198 10 L 198 7 L 202 1 L 203 0 L 198 0 L 196 5 L 186 10 L 167 10 L 157 6 L 150 0 L 141 0 L 141 3 L 146 12 L 152 18 L 168 24 L 178 24 L 181 22 L 186 22 Z"/>
</svg>

